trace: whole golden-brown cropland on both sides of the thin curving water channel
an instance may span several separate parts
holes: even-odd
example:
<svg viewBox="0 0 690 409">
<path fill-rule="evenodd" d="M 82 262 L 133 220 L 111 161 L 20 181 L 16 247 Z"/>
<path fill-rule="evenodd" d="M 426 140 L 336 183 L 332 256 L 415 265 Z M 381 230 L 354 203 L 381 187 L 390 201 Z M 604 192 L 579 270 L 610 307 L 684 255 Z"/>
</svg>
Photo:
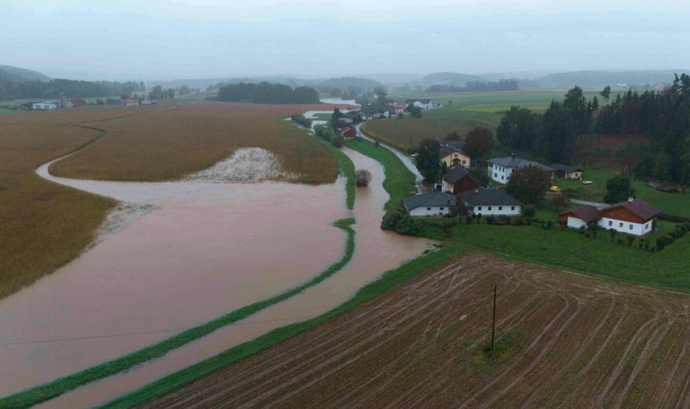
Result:
<svg viewBox="0 0 690 409">
<path fill-rule="evenodd" d="M 175 180 L 239 147 L 277 155 L 297 182 L 333 182 L 335 158 L 284 118 L 334 105 L 193 104 L 83 107 L 0 117 L 0 298 L 52 273 L 92 242 L 115 200 L 43 180 Z M 76 126 L 75 126 L 76 125 Z M 103 129 L 106 134 L 96 140 Z M 85 147 L 85 145 L 90 144 Z"/>
</svg>

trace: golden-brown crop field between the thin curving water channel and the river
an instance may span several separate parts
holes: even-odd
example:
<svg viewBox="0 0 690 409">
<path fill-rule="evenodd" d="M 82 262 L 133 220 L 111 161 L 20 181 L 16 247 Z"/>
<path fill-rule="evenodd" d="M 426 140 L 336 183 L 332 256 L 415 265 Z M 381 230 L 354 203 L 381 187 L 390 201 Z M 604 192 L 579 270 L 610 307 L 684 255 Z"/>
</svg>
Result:
<svg viewBox="0 0 690 409">
<path fill-rule="evenodd" d="M 103 120 L 105 138 L 56 162 L 50 172 L 99 180 L 175 180 L 228 158 L 235 149 L 273 152 L 297 182 L 330 183 L 338 174 L 327 149 L 284 118 L 333 105 L 198 103 Z"/>
</svg>

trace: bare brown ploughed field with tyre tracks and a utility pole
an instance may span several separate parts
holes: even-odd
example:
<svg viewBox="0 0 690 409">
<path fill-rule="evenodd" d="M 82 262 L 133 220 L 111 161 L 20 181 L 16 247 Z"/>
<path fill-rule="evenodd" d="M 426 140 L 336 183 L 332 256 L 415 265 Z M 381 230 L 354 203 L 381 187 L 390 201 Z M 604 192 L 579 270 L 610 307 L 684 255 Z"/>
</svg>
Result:
<svg viewBox="0 0 690 409">
<path fill-rule="evenodd" d="M 146 407 L 687 407 L 688 305 L 470 253 Z"/>
</svg>

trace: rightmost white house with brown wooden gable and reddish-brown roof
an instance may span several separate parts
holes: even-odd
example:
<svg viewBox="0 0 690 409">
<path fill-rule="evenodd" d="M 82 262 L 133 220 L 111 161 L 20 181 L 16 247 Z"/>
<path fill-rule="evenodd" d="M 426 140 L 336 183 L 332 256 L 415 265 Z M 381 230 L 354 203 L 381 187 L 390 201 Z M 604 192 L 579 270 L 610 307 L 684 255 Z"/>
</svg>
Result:
<svg viewBox="0 0 690 409">
<path fill-rule="evenodd" d="M 652 231 L 652 221 L 661 210 L 637 198 L 611 204 L 599 211 L 599 225 L 605 229 L 615 229 L 621 233 L 644 235 Z"/>
</svg>

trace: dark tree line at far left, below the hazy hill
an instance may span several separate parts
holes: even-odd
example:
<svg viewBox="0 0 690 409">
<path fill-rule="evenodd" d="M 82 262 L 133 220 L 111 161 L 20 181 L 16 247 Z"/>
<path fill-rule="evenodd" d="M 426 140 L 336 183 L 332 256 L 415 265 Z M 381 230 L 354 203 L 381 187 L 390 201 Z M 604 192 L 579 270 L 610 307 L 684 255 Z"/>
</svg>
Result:
<svg viewBox="0 0 690 409">
<path fill-rule="evenodd" d="M 68 98 L 86 98 L 90 96 L 119 96 L 132 92 L 146 91 L 144 82 L 126 81 L 75 81 L 53 79 L 48 82 L 26 81 L 23 83 L 0 82 L 0 101 L 13 99 L 55 99 L 60 94 Z"/>
</svg>

